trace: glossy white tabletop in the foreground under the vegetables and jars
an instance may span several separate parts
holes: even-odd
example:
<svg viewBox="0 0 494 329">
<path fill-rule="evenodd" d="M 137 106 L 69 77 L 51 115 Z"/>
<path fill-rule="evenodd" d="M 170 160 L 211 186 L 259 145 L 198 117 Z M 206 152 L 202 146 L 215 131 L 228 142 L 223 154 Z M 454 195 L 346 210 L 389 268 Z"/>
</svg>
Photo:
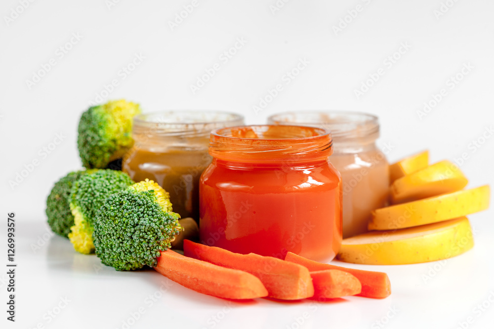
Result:
<svg viewBox="0 0 494 329">
<path fill-rule="evenodd" d="M 475 220 L 482 218 L 487 216 Z M 441 262 L 399 266 L 334 262 L 388 273 L 392 294 L 385 299 L 234 302 L 188 290 L 153 270 L 117 272 L 94 255 L 77 254 L 66 239 L 53 236 L 44 242 L 45 227 L 41 221 L 18 222 L 15 328 L 35 328 L 38 323 L 45 328 L 126 328 L 123 321 L 128 323 L 139 310 L 142 315 L 130 328 L 373 329 L 382 328 L 379 320 L 386 322 L 384 328 L 456 328 L 470 316 L 474 323 L 468 328 L 492 328 L 494 321 L 492 233 L 477 233 L 473 250 Z M 70 301 L 53 319 L 48 312 L 60 298 Z M 486 300 L 484 312 L 475 309 Z M 297 327 L 304 312 L 308 317 Z"/>
</svg>

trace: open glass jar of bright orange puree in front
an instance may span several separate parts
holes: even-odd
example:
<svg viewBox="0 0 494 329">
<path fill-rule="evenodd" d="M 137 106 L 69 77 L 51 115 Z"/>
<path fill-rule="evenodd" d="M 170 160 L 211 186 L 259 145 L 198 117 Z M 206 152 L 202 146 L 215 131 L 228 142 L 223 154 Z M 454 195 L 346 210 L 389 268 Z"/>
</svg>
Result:
<svg viewBox="0 0 494 329">
<path fill-rule="evenodd" d="M 200 181 L 200 234 L 209 246 L 284 258 L 332 259 L 341 244 L 341 179 L 328 131 L 241 126 L 211 133 Z"/>
</svg>

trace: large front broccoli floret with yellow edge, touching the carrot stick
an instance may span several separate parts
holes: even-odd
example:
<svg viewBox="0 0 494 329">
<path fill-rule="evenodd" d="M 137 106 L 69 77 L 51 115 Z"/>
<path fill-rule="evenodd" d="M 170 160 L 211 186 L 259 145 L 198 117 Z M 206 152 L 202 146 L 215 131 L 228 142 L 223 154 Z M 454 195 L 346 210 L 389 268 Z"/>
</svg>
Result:
<svg viewBox="0 0 494 329">
<path fill-rule="evenodd" d="M 153 181 L 136 183 L 106 199 L 94 221 L 94 246 L 103 264 L 119 271 L 155 267 L 182 231 L 168 193 Z"/>
</svg>

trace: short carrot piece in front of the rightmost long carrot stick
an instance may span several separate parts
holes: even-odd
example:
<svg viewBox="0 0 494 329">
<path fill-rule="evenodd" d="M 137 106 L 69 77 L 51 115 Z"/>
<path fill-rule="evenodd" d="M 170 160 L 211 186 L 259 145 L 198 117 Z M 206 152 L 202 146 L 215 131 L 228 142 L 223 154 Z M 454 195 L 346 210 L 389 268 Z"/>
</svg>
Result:
<svg viewBox="0 0 494 329">
<path fill-rule="evenodd" d="M 313 298 L 338 298 L 352 296 L 362 291 L 359 279 L 340 270 L 310 272 L 314 284 Z"/>
</svg>

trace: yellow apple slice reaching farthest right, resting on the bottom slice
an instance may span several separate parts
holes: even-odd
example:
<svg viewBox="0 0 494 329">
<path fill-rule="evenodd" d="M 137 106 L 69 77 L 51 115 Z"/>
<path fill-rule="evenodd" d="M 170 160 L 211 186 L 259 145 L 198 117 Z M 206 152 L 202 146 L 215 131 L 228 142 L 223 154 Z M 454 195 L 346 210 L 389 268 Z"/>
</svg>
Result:
<svg viewBox="0 0 494 329">
<path fill-rule="evenodd" d="M 389 230 L 466 216 L 489 208 L 491 189 L 484 185 L 376 209 L 369 230 Z"/>
</svg>

